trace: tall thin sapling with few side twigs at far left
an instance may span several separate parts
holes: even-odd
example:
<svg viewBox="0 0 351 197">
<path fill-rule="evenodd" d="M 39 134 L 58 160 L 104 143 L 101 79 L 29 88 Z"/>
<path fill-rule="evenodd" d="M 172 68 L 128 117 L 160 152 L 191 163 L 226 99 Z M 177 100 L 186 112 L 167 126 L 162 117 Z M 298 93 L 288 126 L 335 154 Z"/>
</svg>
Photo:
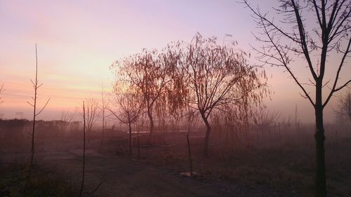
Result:
<svg viewBox="0 0 351 197">
<path fill-rule="evenodd" d="M 46 101 L 46 104 L 44 105 L 44 107 L 42 107 L 39 110 L 39 112 L 37 112 L 37 91 L 43 85 L 43 83 L 39 84 L 39 80 L 38 80 L 37 44 L 35 44 L 35 61 L 36 61 L 36 64 L 35 64 L 35 80 L 34 81 L 32 79 L 30 80 L 30 81 L 32 81 L 33 88 L 34 88 L 34 97 L 32 97 L 33 103 L 27 102 L 28 104 L 30 104 L 33 107 L 33 126 L 32 126 L 32 133 L 30 134 L 32 136 L 32 147 L 31 147 L 31 156 L 30 156 L 30 163 L 29 163 L 28 179 L 30 179 L 30 175 L 31 175 L 31 172 L 32 172 L 32 167 L 33 167 L 33 159 L 34 159 L 35 121 L 36 121 L 37 116 L 39 114 L 41 114 L 41 112 L 45 109 L 46 105 L 50 101 L 50 97 L 49 97 L 48 100 Z"/>
</svg>

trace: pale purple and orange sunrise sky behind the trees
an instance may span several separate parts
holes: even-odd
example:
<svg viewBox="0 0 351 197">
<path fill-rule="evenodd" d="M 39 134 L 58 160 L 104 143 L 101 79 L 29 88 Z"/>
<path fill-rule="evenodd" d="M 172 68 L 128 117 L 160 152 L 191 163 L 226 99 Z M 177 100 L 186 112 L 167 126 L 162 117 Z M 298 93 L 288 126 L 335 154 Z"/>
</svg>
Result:
<svg viewBox="0 0 351 197">
<path fill-rule="evenodd" d="M 260 8 L 269 9 L 275 2 L 261 2 Z M 24 118 L 32 115 L 27 101 L 34 93 L 29 79 L 34 79 L 37 43 L 39 82 L 44 83 L 39 89 L 39 108 L 51 97 L 39 116 L 46 120 L 59 118 L 62 111 L 74 111 L 86 98 L 100 99 L 102 86 L 105 92 L 112 92 L 110 65 L 143 48 L 161 49 L 171 41 L 190 41 L 200 32 L 205 37 L 217 36 L 218 42 L 234 39 L 240 50 L 253 53 L 250 44 L 257 43 L 251 32 L 259 31 L 250 11 L 230 0 L 0 0 L 0 27 L 0 84 L 6 89 L 0 113 L 4 118 L 19 118 L 16 112 L 22 112 Z M 331 64 L 334 60 L 331 57 Z M 254 57 L 250 61 L 255 62 Z M 294 72 L 307 76 L 305 66 L 299 61 L 295 64 Z M 294 116 L 298 106 L 300 121 L 314 121 L 312 105 L 300 96 L 284 69 L 265 69 L 272 76 L 269 83 L 274 92 L 272 100 L 266 99 L 270 111 Z M 345 73 L 350 77 L 350 63 Z M 326 122 L 334 121 L 333 105 L 335 99 L 325 109 Z"/>
</svg>

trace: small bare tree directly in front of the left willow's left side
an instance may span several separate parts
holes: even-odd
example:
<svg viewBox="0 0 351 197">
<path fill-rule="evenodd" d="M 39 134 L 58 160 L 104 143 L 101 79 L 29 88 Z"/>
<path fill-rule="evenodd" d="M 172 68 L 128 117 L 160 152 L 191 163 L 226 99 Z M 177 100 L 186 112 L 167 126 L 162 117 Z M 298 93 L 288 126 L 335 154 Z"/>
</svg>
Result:
<svg viewBox="0 0 351 197">
<path fill-rule="evenodd" d="M 133 92 L 133 90 L 121 88 L 115 89 L 116 97 L 112 104 L 118 107 L 114 112 L 112 109 L 107 108 L 121 123 L 128 125 L 128 141 L 129 141 L 129 154 L 132 154 L 132 127 L 131 125 L 135 123 L 143 109 L 143 101 L 139 99 L 138 93 Z"/>
</svg>

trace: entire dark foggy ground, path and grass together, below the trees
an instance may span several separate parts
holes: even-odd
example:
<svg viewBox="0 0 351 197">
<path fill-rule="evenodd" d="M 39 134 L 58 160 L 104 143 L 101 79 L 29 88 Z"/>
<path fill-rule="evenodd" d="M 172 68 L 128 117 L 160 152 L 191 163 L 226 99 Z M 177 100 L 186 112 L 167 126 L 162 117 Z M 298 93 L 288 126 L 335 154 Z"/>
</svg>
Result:
<svg viewBox="0 0 351 197">
<path fill-rule="evenodd" d="M 87 135 L 85 195 L 88 196 L 313 196 L 314 140 L 312 125 L 276 125 L 248 133 L 213 129 L 210 154 L 203 156 L 204 132 L 190 131 L 193 175 L 187 133 L 133 134 L 121 130 Z M 139 146 L 138 146 L 139 140 Z M 79 131 L 39 135 L 32 191 L 23 191 L 29 138 L 1 138 L 1 195 L 77 196 L 81 179 L 82 139 Z M 139 151 L 138 151 L 139 150 Z M 16 164 L 16 165 L 13 165 Z M 351 194 L 351 133 L 326 126 L 326 177 L 329 196 Z M 14 184 L 15 183 L 15 184 Z M 43 186 L 41 186 L 43 185 Z M 55 185 L 55 186 L 53 186 Z M 38 191 L 39 194 L 38 194 Z M 29 192 L 29 193 L 28 193 Z M 36 193 L 37 192 L 37 193 Z M 33 193 L 36 193 L 35 195 Z M 44 193 L 44 194 L 43 194 Z M 53 196 L 55 196 L 53 195 Z"/>
</svg>

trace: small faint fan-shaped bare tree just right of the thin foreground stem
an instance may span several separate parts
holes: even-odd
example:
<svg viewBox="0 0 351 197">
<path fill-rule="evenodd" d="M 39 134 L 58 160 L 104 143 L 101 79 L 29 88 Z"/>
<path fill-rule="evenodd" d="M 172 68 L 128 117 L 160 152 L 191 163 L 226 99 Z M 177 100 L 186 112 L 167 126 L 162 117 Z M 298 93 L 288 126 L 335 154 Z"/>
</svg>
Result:
<svg viewBox="0 0 351 197">
<path fill-rule="evenodd" d="M 93 98 L 86 99 L 86 132 L 93 129 L 98 117 L 100 116 L 99 104 Z"/>
</svg>

